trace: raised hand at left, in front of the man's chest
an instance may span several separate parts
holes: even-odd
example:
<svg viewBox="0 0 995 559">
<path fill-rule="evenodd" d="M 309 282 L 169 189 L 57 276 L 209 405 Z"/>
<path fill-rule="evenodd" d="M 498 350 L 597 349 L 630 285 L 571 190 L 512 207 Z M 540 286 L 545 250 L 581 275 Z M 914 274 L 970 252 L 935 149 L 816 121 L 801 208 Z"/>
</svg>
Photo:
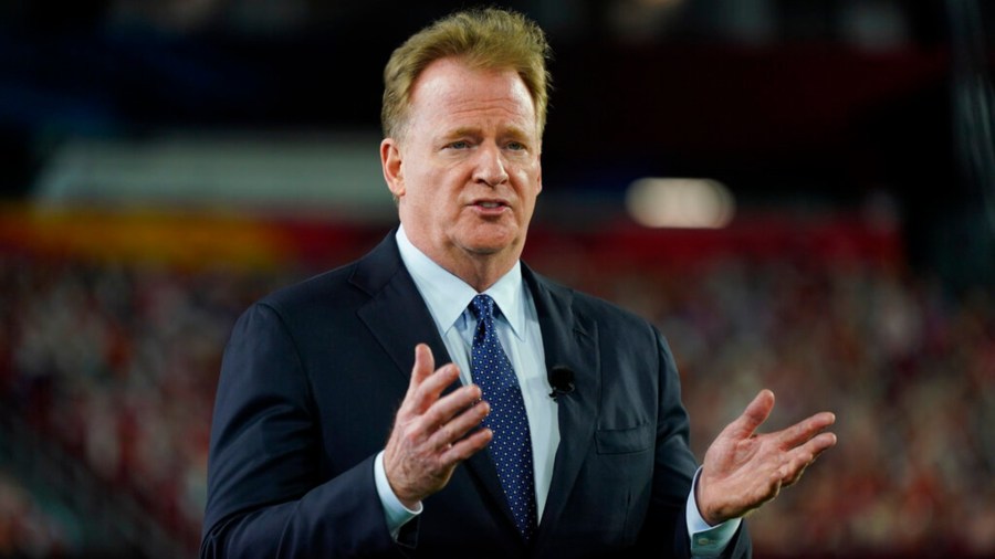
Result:
<svg viewBox="0 0 995 559">
<path fill-rule="evenodd" d="M 440 398 L 460 371 L 449 363 L 434 370 L 432 350 L 425 344 L 415 348 L 415 368 L 408 393 L 397 411 L 394 430 L 384 450 L 384 470 L 390 488 L 408 508 L 440 491 L 452 471 L 491 442 L 490 429 L 480 425 L 491 411 L 481 401 L 475 384 Z"/>
</svg>

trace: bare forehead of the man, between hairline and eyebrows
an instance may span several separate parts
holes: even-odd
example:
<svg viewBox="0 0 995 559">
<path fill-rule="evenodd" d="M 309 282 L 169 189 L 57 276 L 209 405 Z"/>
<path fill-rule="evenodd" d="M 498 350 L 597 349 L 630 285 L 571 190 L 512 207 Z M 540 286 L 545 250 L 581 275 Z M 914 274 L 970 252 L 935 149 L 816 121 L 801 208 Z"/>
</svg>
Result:
<svg viewBox="0 0 995 559">
<path fill-rule="evenodd" d="M 411 88 L 409 110 L 412 124 L 485 120 L 528 130 L 536 126 L 535 103 L 514 70 L 472 68 L 455 59 L 437 60 L 421 72 Z"/>
</svg>

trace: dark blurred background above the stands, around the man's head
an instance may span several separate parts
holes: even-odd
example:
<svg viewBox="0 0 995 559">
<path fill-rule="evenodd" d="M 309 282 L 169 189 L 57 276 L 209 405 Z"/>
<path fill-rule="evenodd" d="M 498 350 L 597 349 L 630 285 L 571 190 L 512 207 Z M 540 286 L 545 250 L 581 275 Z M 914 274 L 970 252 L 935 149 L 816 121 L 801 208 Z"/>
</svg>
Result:
<svg viewBox="0 0 995 559">
<path fill-rule="evenodd" d="M 69 136 L 376 129 L 390 51 L 464 6 L 8 1 L 0 192 L 29 196 Z M 984 2 L 506 6 L 535 18 L 555 51 L 544 146 L 555 192 L 596 201 L 652 175 L 716 178 L 747 207 L 855 208 L 883 192 L 912 259 L 957 285 L 970 274 L 944 247 L 993 246 L 995 225 L 980 213 L 995 198 L 991 177 L 966 176 L 955 140 L 957 48 L 984 45 Z M 986 77 L 993 51 L 982 52 L 959 72 Z M 968 260 L 991 278 L 991 265 Z"/>
</svg>

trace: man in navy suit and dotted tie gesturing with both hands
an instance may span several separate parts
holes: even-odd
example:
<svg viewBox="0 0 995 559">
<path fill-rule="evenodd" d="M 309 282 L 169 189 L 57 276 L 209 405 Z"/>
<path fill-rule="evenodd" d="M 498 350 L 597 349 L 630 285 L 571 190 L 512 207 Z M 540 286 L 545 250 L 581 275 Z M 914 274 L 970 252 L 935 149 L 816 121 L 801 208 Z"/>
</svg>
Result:
<svg viewBox="0 0 995 559">
<path fill-rule="evenodd" d="M 660 334 L 520 262 L 547 51 L 500 10 L 395 51 L 380 159 L 400 228 L 240 318 L 202 557 L 745 557 L 740 518 L 835 443 L 830 413 L 756 434 L 763 391 L 695 474 Z"/>
</svg>

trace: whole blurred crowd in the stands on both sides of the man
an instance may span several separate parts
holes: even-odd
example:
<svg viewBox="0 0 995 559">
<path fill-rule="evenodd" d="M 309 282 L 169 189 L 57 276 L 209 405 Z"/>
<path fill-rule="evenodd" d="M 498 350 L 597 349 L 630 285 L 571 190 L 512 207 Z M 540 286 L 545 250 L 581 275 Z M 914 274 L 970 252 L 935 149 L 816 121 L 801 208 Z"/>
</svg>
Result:
<svg viewBox="0 0 995 559">
<path fill-rule="evenodd" d="M 991 291 L 955 296 L 893 262 L 591 257 L 577 247 L 530 263 L 661 329 L 699 458 L 763 387 L 777 397 L 769 429 L 836 412 L 838 446 L 751 517 L 758 555 L 995 555 Z M 0 413 L 128 492 L 192 553 L 230 328 L 259 296 L 317 271 L 3 254 Z M 23 491 L 0 482 L 0 496 Z M 17 514 L 2 503 L 0 550 Z"/>
</svg>

